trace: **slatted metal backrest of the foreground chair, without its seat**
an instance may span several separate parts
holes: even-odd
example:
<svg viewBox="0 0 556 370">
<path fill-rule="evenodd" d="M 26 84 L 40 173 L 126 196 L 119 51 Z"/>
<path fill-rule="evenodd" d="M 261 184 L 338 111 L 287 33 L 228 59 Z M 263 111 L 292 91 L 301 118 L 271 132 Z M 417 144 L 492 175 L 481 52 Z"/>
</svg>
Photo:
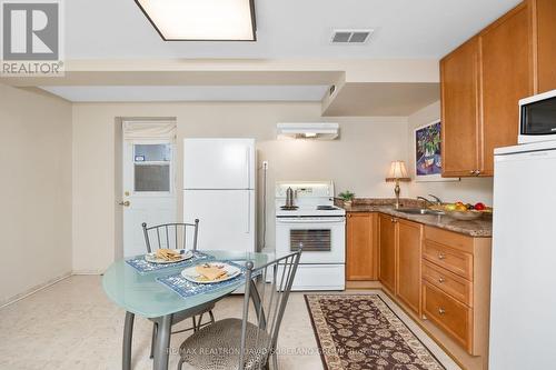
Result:
<svg viewBox="0 0 556 370">
<path fill-rule="evenodd" d="M 302 244 L 298 251 L 288 256 L 278 258 L 267 264 L 254 269 L 254 263 L 246 263 L 246 288 L 244 297 L 244 316 L 241 327 L 241 347 L 239 352 L 239 369 L 244 369 L 247 359 L 246 340 L 247 324 L 249 322 L 249 306 L 254 302 L 255 313 L 260 329 L 255 340 L 256 348 L 248 350 L 262 351 L 260 358 L 262 363 L 258 367 L 264 368 L 268 356 L 276 350 L 280 324 L 288 302 L 291 286 L 296 277 L 299 259 L 301 258 Z M 251 283 L 248 283 L 251 282 Z M 260 338 L 259 336 L 265 333 Z"/>
</svg>

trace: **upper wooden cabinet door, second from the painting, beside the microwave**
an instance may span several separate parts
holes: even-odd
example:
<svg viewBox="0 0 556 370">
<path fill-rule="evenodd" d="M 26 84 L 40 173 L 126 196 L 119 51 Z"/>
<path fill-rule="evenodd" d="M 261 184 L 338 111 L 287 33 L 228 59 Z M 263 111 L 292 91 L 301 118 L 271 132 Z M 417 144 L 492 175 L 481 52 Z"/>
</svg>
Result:
<svg viewBox="0 0 556 370">
<path fill-rule="evenodd" d="M 524 2 L 479 37 L 483 158 L 477 169 L 480 176 L 494 176 L 495 148 L 517 144 L 518 102 L 533 94 L 529 14 L 528 2 Z"/>
</svg>

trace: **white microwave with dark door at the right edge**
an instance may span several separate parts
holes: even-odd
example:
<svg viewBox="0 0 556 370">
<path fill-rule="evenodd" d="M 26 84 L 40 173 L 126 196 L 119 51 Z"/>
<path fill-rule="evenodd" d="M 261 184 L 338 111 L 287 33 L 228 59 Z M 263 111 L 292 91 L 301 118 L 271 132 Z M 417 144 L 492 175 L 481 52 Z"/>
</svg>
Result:
<svg viewBox="0 0 556 370">
<path fill-rule="evenodd" d="M 518 143 L 556 140 L 556 90 L 519 100 Z"/>
</svg>

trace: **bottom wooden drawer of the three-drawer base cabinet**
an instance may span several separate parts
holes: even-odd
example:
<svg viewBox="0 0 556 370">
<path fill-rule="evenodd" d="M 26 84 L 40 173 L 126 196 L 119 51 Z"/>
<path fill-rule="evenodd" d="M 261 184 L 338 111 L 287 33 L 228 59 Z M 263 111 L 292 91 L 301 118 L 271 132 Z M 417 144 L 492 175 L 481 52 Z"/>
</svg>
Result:
<svg viewBox="0 0 556 370">
<path fill-rule="evenodd" d="M 473 310 L 431 284 L 423 284 L 423 313 L 471 351 Z"/>
</svg>

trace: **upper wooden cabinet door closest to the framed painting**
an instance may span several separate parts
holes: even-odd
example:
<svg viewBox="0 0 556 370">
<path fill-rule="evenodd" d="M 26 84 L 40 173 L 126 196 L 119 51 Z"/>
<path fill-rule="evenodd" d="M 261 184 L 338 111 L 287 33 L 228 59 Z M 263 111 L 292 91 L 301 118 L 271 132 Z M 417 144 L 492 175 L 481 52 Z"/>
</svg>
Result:
<svg viewBox="0 0 556 370">
<path fill-rule="evenodd" d="M 440 61 L 443 176 L 475 176 L 479 163 L 479 40 Z"/>
</svg>

